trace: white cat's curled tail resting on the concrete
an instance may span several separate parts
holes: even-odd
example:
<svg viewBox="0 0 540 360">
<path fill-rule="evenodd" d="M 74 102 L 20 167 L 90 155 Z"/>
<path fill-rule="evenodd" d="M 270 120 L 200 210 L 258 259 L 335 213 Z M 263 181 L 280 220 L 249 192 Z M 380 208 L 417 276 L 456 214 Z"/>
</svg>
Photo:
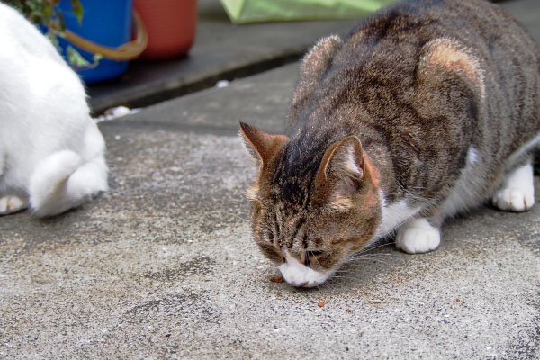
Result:
<svg viewBox="0 0 540 360">
<path fill-rule="evenodd" d="M 58 151 L 44 159 L 31 175 L 31 208 L 39 217 L 57 215 L 107 188 L 103 156 L 84 162 L 73 151 Z"/>
</svg>

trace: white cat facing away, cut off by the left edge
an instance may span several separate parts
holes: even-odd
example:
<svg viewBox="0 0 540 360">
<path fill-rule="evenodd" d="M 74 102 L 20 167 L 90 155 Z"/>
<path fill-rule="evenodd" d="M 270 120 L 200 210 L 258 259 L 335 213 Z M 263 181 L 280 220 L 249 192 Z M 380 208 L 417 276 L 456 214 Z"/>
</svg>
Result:
<svg viewBox="0 0 540 360">
<path fill-rule="evenodd" d="M 22 14 L 0 3 L 0 215 L 56 215 L 106 191 L 85 89 Z"/>
</svg>

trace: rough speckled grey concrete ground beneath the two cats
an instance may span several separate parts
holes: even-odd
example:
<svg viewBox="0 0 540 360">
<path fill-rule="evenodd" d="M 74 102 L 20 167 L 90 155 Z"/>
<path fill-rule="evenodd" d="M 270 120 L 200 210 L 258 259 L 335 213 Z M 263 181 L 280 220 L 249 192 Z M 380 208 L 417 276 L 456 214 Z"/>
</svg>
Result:
<svg viewBox="0 0 540 360">
<path fill-rule="evenodd" d="M 320 288 L 270 281 L 238 121 L 283 129 L 297 72 L 103 122 L 109 193 L 0 218 L 0 358 L 540 359 L 538 205 L 484 207 L 435 252 L 389 244 Z"/>
</svg>

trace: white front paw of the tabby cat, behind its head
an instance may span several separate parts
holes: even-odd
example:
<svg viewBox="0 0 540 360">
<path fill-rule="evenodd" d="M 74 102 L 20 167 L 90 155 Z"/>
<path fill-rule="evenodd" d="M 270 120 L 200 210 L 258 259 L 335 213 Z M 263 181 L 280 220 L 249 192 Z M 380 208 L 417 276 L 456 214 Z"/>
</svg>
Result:
<svg viewBox="0 0 540 360">
<path fill-rule="evenodd" d="M 396 235 L 396 247 L 409 254 L 435 250 L 441 242 L 439 229 L 426 219 L 414 219 L 403 224 Z"/>
</svg>

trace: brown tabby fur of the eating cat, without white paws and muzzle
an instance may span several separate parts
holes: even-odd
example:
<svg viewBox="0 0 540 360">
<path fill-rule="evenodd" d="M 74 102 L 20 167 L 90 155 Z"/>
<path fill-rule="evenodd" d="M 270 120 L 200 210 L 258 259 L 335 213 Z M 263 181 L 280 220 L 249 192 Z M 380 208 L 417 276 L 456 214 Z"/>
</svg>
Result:
<svg viewBox="0 0 540 360">
<path fill-rule="evenodd" d="M 438 229 L 482 203 L 530 161 L 539 64 L 522 27 L 484 0 L 397 4 L 345 41 L 320 40 L 302 62 L 287 135 L 241 124 L 259 160 L 248 192 L 257 244 L 324 281 L 384 235 L 392 204 Z"/>
</svg>

